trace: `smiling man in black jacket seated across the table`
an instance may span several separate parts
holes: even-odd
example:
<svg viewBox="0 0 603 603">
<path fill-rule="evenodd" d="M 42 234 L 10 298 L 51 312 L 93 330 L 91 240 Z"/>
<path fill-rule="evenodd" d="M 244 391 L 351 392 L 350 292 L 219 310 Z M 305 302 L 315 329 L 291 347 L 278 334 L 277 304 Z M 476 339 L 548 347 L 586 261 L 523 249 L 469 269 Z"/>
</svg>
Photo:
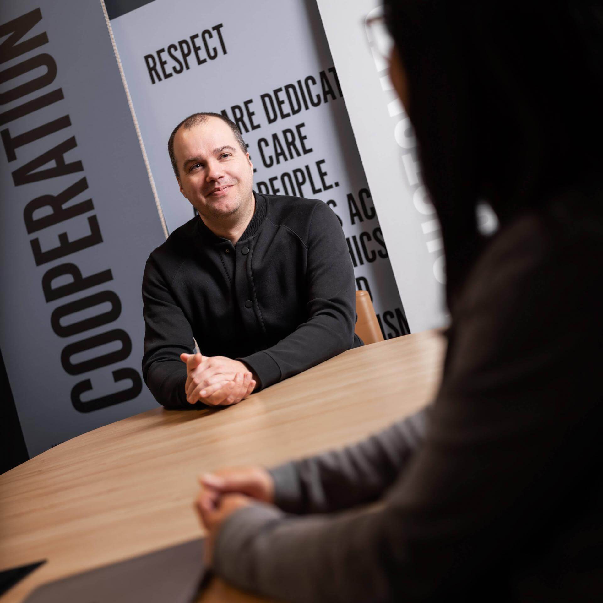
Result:
<svg viewBox="0 0 603 603">
<path fill-rule="evenodd" d="M 362 345 L 352 260 L 322 201 L 253 192 L 232 121 L 195 113 L 168 151 L 198 216 L 151 253 L 142 370 L 166 408 L 227 405 Z M 201 353 L 192 354 L 194 338 Z"/>
</svg>

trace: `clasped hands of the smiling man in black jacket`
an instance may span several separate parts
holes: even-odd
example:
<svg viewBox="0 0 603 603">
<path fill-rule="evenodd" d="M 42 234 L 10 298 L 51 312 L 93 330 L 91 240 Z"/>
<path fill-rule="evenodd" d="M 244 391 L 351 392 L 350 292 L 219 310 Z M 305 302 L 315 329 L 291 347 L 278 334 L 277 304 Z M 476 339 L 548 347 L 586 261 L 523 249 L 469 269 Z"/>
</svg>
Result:
<svg viewBox="0 0 603 603">
<path fill-rule="evenodd" d="M 180 354 L 186 364 L 186 401 L 228 406 L 244 400 L 256 387 L 249 368 L 226 356 Z"/>
</svg>

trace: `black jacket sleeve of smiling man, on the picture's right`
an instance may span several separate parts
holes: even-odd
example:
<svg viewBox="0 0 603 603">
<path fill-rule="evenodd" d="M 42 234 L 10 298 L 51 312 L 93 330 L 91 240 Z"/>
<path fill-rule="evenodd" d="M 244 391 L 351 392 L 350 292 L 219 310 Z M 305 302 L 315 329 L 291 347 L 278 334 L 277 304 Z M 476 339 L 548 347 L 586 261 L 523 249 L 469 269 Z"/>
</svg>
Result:
<svg viewBox="0 0 603 603">
<path fill-rule="evenodd" d="M 306 264 L 307 320 L 275 346 L 245 362 L 261 388 L 291 377 L 353 347 L 356 288 L 352 259 L 337 216 L 326 203 L 314 208 Z"/>
</svg>

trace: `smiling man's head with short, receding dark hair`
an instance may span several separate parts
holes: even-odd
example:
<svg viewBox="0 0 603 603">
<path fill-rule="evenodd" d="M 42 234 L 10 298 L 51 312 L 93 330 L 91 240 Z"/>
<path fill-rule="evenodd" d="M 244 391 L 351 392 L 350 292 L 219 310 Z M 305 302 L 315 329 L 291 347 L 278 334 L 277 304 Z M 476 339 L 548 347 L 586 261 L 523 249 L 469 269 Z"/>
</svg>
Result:
<svg viewBox="0 0 603 603">
<path fill-rule="evenodd" d="M 253 165 L 235 134 L 221 119 L 210 117 L 174 137 L 180 192 L 201 216 L 235 215 L 253 203 Z"/>
</svg>

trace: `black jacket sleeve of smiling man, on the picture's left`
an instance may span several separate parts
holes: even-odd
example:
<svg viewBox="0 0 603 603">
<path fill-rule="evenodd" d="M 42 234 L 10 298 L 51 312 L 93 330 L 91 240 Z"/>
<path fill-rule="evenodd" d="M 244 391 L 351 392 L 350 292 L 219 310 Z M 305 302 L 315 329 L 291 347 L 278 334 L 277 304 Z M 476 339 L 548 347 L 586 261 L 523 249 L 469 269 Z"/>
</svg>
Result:
<svg viewBox="0 0 603 603">
<path fill-rule="evenodd" d="M 203 408 L 186 402 L 186 365 L 180 354 L 193 352 L 191 325 L 172 297 L 166 276 L 153 256 L 142 280 L 142 314 L 145 320 L 142 376 L 147 387 L 165 408 Z"/>
</svg>

